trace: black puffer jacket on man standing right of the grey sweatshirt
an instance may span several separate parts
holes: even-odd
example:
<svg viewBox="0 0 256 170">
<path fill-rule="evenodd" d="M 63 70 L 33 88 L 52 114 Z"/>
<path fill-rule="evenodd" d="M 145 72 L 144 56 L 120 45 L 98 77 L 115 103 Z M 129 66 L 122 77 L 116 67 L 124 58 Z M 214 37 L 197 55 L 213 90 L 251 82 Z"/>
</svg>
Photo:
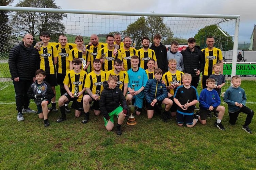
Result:
<svg viewBox="0 0 256 170">
<path fill-rule="evenodd" d="M 194 69 L 203 71 L 205 66 L 205 61 L 203 58 L 203 53 L 201 50 L 195 47 L 194 51 L 190 51 L 189 47 L 186 50 L 180 52 L 183 56 L 183 63 L 184 63 L 184 73 L 191 74 L 192 77 L 199 77 L 196 75 Z"/>
</svg>

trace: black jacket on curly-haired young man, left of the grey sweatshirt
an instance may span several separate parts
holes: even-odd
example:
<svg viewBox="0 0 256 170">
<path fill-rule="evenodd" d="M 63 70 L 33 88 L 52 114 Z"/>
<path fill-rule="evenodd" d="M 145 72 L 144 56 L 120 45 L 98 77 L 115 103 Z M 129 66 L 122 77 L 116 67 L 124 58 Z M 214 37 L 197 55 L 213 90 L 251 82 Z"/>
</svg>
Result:
<svg viewBox="0 0 256 170">
<path fill-rule="evenodd" d="M 163 72 L 168 71 L 168 61 L 167 61 L 167 49 L 166 47 L 160 43 L 157 47 L 155 44 L 152 44 L 150 49 L 154 50 L 157 57 L 157 66 L 161 68 Z"/>
</svg>

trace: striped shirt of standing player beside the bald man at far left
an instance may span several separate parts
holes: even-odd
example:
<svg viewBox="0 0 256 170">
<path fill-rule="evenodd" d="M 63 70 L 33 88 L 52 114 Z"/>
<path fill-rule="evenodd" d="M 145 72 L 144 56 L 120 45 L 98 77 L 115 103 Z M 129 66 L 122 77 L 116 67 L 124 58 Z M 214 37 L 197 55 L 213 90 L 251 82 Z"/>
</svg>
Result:
<svg viewBox="0 0 256 170">
<path fill-rule="evenodd" d="M 54 57 L 58 57 L 57 48 L 51 44 L 46 47 L 41 47 L 38 51 L 40 57 L 40 69 L 46 71 L 46 74 L 56 74 L 56 68 L 54 66 Z"/>
</svg>

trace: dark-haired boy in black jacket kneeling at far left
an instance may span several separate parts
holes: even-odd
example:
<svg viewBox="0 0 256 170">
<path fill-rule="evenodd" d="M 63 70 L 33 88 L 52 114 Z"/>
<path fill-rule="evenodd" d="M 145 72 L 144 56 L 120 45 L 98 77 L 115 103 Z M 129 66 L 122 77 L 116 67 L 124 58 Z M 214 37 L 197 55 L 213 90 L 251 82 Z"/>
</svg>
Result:
<svg viewBox="0 0 256 170">
<path fill-rule="evenodd" d="M 36 70 L 35 79 L 28 89 L 28 97 L 34 99 L 37 105 L 37 113 L 40 119 L 44 119 L 45 127 L 49 126 L 48 113 L 50 110 L 47 105 L 51 103 L 51 99 L 55 96 L 51 86 L 44 81 L 46 72 L 42 69 Z"/>
</svg>

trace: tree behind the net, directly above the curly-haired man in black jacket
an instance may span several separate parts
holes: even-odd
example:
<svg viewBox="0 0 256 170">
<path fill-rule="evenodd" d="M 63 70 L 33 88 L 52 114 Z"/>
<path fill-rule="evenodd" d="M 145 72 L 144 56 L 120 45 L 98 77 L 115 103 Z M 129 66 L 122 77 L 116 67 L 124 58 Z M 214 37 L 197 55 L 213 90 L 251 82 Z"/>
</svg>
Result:
<svg viewBox="0 0 256 170">
<path fill-rule="evenodd" d="M 163 17 L 147 17 L 147 26 L 149 31 L 149 39 L 153 43 L 154 35 L 160 34 L 162 40 L 173 37 L 173 32 L 164 23 Z"/>
</svg>

